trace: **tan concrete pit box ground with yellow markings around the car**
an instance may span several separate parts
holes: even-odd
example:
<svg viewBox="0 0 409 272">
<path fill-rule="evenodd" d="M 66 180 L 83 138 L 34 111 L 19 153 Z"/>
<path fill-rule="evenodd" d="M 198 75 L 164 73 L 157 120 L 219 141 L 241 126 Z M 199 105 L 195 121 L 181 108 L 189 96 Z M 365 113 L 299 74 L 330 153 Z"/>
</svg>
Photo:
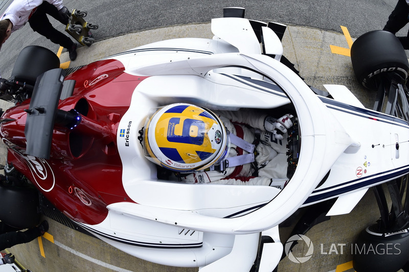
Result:
<svg viewBox="0 0 409 272">
<path fill-rule="evenodd" d="M 68 5 L 68 3 L 67 3 Z M 239 5 L 234 5 L 239 6 Z M 391 5 L 393 6 L 393 5 Z M 390 11 L 392 8 L 389 6 Z M 215 17 L 221 16 L 217 14 Z M 385 18 L 388 12 L 384 12 Z M 249 16 L 246 16 L 251 18 Z M 209 19 L 210 20 L 210 19 Z M 280 20 L 275 20 L 283 22 Z M 383 26 L 383 21 L 380 27 Z M 345 23 L 340 23 L 345 25 Z M 378 28 L 378 29 L 379 29 Z M 20 31 L 31 31 L 25 27 Z M 351 33 L 353 30 L 349 29 Z M 17 32 L 18 33 L 18 32 Z M 95 32 L 96 36 L 98 31 Z M 16 35 L 16 34 L 14 34 Z M 77 60 L 70 63 L 76 67 L 89 62 L 123 52 L 130 48 L 146 43 L 179 37 L 211 38 L 210 23 L 186 24 L 141 32 L 128 33 L 118 37 L 101 39 L 90 47 L 78 49 Z M 13 36 L 12 36 L 13 37 Z M 17 38 L 15 38 L 17 40 Z M 354 40 L 354 36 L 352 38 Z M 38 42 L 39 40 L 35 40 Z M 46 46 L 44 39 L 39 45 Z M 9 41 L 8 41 L 9 42 Z M 34 44 L 36 43 L 34 42 Z M 15 44 L 16 41 L 7 44 Z M 6 44 L 0 53 L 0 62 L 6 53 Z M 307 84 L 319 89 L 324 89 L 323 84 L 342 84 L 347 86 L 358 99 L 368 108 L 372 108 L 373 93 L 363 89 L 357 84 L 348 56 L 334 54 L 330 45 L 349 48 L 346 37 L 339 31 L 330 31 L 306 26 L 289 24 L 283 38 L 284 55 L 300 70 Z M 48 47 L 48 46 L 46 46 Z M 16 51 L 17 48 L 16 47 Z M 50 46 L 55 52 L 58 48 Z M 69 61 L 67 53 L 61 54 L 61 62 Z M 3 67 L 4 63 L 2 63 Z M 12 65 L 10 65 L 12 67 Z M 1 66 L 0 66 L 1 69 Z M 9 69 L 11 71 L 11 69 Z M 7 78 L 7 72 L 4 77 Z M 11 105 L 4 103 L 0 107 L 8 108 Z M 6 153 L 4 148 L 0 153 L 1 162 L 4 162 Z M 371 225 L 379 217 L 375 197 L 371 190 L 360 201 L 357 207 L 347 215 L 334 216 L 331 220 L 313 227 L 307 236 L 314 245 L 312 258 L 305 263 L 293 263 L 288 258 L 280 262 L 279 271 L 351 271 L 349 262 L 352 260 L 351 248 L 356 235 L 365 227 Z M 42 237 L 27 244 L 13 246 L 9 249 L 26 268 L 36 271 L 197 271 L 197 268 L 168 267 L 149 263 L 124 252 L 121 252 L 105 242 L 66 228 L 58 222 L 49 219 L 50 236 Z M 291 227 L 282 227 L 281 240 L 288 239 Z M 52 240 L 52 241 L 51 241 Z M 332 245 L 335 245 L 335 250 Z M 345 244 L 345 245 L 344 245 Z M 343 249 L 343 252 L 341 252 Z M 43 250 L 43 257 L 41 254 Z M 294 256 L 304 257 L 305 246 L 294 247 Z"/>
</svg>

